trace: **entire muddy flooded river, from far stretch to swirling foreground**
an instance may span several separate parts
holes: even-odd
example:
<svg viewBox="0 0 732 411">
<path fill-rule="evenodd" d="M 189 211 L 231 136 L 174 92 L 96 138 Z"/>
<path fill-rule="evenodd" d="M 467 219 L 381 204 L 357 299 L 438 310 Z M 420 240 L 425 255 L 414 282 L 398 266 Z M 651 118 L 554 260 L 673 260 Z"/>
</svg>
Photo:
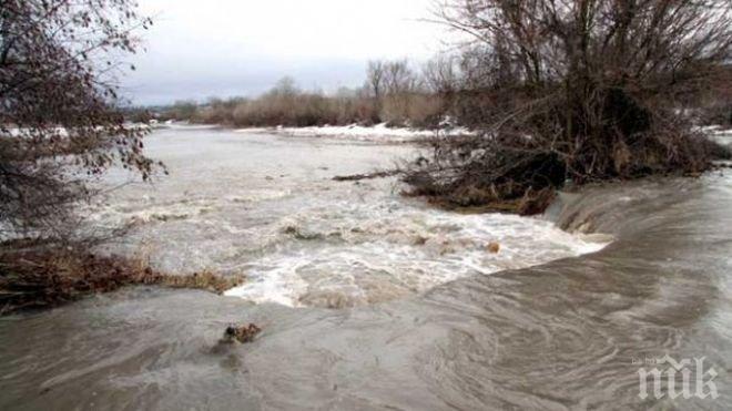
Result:
<svg viewBox="0 0 732 411">
<path fill-rule="evenodd" d="M 149 150 L 171 176 L 91 212 L 135 224 L 110 250 L 247 284 L 0 319 L 0 408 L 732 408 L 729 175 L 588 187 L 529 219 L 332 181 L 416 155 L 404 144 L 184 129 Z M 218 345 L 232 322 L 264 331 Z M 703 358 L 715 398 L 641 398 L 667 355 Z"/>
</svg>

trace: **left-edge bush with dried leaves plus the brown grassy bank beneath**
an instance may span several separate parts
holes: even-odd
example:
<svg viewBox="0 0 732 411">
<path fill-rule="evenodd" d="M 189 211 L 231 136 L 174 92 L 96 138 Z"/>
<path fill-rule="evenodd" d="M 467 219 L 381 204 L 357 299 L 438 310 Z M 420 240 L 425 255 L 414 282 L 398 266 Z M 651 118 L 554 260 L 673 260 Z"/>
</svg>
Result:
<svg viewBox="0 0 732 411">
<path fill-rule="evenodd" d="M 134 70 L 118 60 L 135 52 L 133 32 L 151 24 L 133 0 L 0 3 L 0 239 L 30 238 L 0 249 L 0 314 L 130 284 L 203 286 L 69 243 L 75 206 L 94 194 L 89 176 L 114 164 L 143 179 L 154 171 L 146 130 L 126 125 L 115 83 Z"/>
</svg>

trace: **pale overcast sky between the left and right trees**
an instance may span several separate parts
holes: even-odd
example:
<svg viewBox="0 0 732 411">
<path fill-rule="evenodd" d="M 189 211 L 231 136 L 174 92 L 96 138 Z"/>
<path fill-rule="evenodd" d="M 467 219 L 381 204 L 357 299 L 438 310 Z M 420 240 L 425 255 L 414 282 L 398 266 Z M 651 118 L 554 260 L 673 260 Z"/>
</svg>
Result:
<svg viewBox="0 0 732 411">
<path fill-rule="evenodd" d="M 136 104 L 256 95 L 293 76 L 326 92 L 359 85 L 369 59 L 427 60 L 447 32 L 434 0 L 140 0 L 154 25 L 123 80 Z"/>
</svg>

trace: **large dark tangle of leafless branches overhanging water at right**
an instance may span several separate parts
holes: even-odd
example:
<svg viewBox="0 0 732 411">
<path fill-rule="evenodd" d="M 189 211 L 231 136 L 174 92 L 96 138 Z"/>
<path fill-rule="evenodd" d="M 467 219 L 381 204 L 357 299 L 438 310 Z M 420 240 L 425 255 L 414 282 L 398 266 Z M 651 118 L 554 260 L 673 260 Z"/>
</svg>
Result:
<svg viewBox="0 0 732 411">
<path fill-rule="evenodd" d="M 450 0 L 439 17 L 475 39 L 458 109 L 481 133 L 438 143 L 416 194 L 529 213 L 566 179 L 709 167 L 688 109 L 730 62 L 729 0 Z"/>
</svg>

